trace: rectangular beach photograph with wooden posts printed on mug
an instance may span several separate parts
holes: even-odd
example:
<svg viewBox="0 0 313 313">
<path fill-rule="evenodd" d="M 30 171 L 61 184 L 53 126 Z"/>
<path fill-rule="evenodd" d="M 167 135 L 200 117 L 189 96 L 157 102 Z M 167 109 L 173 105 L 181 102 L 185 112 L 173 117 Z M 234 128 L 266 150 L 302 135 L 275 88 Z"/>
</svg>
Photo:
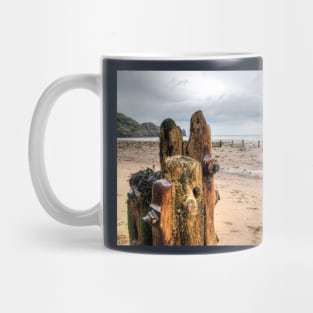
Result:
<svg viewBox="0 0 313 313">
<path fill-rule="evenodd" d="M 262 71 L 117 71 L 117 245 L 262 240 Z"/>
</svg>

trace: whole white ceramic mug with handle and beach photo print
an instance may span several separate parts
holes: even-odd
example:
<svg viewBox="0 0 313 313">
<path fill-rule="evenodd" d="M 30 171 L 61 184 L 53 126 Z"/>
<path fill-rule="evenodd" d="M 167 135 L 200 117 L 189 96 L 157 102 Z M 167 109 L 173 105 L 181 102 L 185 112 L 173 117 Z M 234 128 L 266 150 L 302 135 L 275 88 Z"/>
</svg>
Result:
<svg viewBox="0 0 313 313">
<path fill-rule="evenodd" d="M 43 208 L 64 224 L 103 227 L 104 244 L 122 251 L 208 253 L 258 245 L 262 69 L 260 56 L 245 53 L 104 57 L 101 74 L 56 80 L 38 101 L 29 139 Z M 102 199 L 85 211 L 57 198 L 44 160 L 49 113 L 77 88 L 94 92 L 102 105 Z"/>
</svg>

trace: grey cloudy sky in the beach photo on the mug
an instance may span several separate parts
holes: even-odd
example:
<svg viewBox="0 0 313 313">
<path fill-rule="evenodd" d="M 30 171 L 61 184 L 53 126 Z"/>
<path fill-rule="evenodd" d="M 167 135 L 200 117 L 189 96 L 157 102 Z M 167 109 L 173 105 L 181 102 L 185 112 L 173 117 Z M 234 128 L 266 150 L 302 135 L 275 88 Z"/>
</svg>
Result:
<svg viewBox="0 0 313 313">
<path fill-rule="evenodd" d="M 117 111 L 139 123 L 170 117 L 188 135 L 197 110 L 213 135 L 260 135 L 262 72 L 118 71 Z"/>
</svg>

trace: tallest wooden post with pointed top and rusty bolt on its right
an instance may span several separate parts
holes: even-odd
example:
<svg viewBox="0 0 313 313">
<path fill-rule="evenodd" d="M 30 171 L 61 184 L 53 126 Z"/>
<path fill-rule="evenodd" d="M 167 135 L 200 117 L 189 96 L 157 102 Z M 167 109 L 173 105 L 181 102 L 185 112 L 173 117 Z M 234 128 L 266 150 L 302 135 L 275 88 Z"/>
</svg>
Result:
<svg viewBox="0 0 313 313">
<path fill-rule="evenodd" d="M 216 192 L 214 174 L 218 165 L 213 159 L 211 129 L 202 111 L 195 112 L 190 121 L 190 137 L 186 153 L 196 159 L 202 166 L 202 192 L 205 203 L 205 244 L 216 245 L 217 236 L 214 227 L 214 207 Z"/>
</svg>

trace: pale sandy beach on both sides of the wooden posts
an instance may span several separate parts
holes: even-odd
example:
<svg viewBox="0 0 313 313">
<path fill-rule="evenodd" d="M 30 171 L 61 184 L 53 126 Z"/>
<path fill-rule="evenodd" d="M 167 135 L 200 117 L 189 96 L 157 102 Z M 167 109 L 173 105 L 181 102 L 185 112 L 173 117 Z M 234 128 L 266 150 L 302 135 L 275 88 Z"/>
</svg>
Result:
<svg viewBox="0 0 313 313">
<path fill-rule="evenodd" d="M 221 200 L 215 207 L 219 245 L 257 245 L 262 239 L 262 146 L 241 141 L 213 145 L 220 164 L 215 186 Z M 127 192 L 132 173 L 159 170 L 159 143 L 121 141 L 117 145 L 118 244 L 128 245 Z"/>
</svg>

